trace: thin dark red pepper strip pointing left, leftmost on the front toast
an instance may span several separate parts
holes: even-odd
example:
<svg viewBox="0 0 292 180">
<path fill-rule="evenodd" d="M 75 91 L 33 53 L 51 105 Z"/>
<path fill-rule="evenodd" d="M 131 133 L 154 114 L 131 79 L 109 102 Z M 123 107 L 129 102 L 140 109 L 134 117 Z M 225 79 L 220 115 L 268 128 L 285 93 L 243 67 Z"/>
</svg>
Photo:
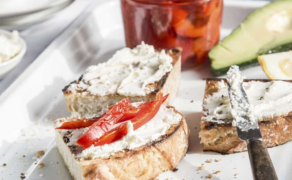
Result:
<svg viewBox="0 0 292 180">
<path fill-rule="evenodd" d="M 64 122 L 60 127 L 57 127 L 55 129 L 78 129 L 78 128 L 88 127 L 88 126 L 91 126 L 96 121 L 100 120 L 100 118 L 104 115 L 105 113 L 103 113 L 102 115 L 99 115 L 98 117 L 93 117 L 90 119 L 82 118 L 81 120 L 77 120 L 77 121 Z"/>
</svg>

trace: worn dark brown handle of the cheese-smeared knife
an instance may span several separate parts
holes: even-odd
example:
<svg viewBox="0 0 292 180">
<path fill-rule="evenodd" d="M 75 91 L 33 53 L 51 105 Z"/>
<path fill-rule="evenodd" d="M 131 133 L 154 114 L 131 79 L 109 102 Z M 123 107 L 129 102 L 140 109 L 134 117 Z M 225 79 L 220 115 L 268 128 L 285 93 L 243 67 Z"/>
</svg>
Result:
<svg viewBox="0 0 292 180">
<path fill-rule="evenodd" d="M 247 144 L 248 156 L 255 180 L 278 180 L 269 152 L 264 141 L 253 140 Z"/>
</svg>

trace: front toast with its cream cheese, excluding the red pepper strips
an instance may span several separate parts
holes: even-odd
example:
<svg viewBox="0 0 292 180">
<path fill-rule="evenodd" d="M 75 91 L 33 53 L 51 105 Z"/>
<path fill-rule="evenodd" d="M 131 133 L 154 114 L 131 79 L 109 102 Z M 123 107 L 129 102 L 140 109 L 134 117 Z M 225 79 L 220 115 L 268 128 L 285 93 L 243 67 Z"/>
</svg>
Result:
<svg viewBox="0 0 292 180">
<path fill-rule="evenodd" d="M 77 117 L 57 119 L 55 127 L 75 120 Z M 189 129 L 174 107 L 161 105 L 158 113 L 135 131 L 130 121 L 126 123 L 128 134 L 122 139 L 86 149 L 76 141 L 88 128 L 55 130 L 58 149 L 73 179 L 153 179 L 177 167 L 185 156 Z"/>
</svg>

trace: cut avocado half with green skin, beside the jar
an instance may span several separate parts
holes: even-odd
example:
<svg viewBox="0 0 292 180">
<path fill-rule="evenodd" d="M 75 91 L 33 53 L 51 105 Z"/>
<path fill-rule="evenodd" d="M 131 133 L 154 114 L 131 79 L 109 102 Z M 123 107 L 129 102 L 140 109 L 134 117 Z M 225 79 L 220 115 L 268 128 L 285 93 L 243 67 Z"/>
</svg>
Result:
<svg viewBox="0 0 292 180">
<path fill-rule="evenodd" d="M 258 64 L 263 54 L 292 50 L 292 0 L 274 1 L 253 11 L 228 37 L 208 53 L 215 75 L 231 65 Z"/>
</svg>

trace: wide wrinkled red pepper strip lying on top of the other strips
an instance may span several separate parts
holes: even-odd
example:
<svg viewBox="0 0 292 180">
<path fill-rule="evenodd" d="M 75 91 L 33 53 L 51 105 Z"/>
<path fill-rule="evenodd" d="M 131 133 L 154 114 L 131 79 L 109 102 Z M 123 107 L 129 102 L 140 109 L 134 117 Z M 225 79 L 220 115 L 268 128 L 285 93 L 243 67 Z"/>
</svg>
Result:
<svg viewBox="0 0 292 180">
<path fill-rule="evenodd" d="M 79 137 L 76 144 L 83 148 L 88 148 L 109 129 L 116 124 L 119 119 L 133 106 L 128 98 L 125 98 L 114 105 L 109 112 L 101 117 L 97 122 L 93 123 L 90 129 Z"/>
</svg>

